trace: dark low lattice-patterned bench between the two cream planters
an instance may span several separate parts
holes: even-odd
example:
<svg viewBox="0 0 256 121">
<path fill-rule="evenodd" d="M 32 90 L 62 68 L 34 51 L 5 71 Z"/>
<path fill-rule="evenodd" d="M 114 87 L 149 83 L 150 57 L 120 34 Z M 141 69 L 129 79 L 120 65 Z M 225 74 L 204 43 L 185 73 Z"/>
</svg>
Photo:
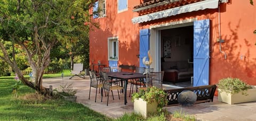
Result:
<svg viewBox="0 0 256 121">
<path fill-rule="evenodd" d="M 207 85 L 165 90 L 165 92 L 167 93 L 168 100 L 168 104 L 166 106 L 179 105 L 178 95 L 185 90 L 190 90 L 196 93 L 197 100 L 195 103 L 212 102 L 216 87 L 216 85 Z"/>
</svg>

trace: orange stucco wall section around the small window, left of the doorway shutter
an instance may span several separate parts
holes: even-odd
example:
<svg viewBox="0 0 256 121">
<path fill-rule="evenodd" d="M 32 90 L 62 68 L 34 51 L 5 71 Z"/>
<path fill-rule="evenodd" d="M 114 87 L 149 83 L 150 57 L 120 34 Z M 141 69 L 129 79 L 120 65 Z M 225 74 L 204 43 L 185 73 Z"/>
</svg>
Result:
<svg viewBox="0 0 256 121">
<path fill-rule="evenodd" d="M 90 63 L 98 60 L 108 66 L 108 37 L 118 37 L 119 59 L 118 64 L 139 65 L 139 27 L 133 25 L 131 19 L 136 13 L 132 12 L 140 1 L 128 4 L 128 10 L 117 13 L 117 1 L 106 2 L 106 17 L 92 19 L 99 22 L 100 28 L 93 27 L 90 31 Z M 98 67 L 97 67 L 98 68 Z"/>
</svg>

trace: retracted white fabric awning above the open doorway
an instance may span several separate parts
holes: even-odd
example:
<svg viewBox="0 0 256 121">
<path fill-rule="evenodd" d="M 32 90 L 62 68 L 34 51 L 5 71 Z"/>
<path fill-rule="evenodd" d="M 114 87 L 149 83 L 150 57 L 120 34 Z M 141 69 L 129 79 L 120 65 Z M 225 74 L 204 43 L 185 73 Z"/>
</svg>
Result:
<svg viewBox="0 0 256 121">
<path fill-rule="evenodd" d="M 219 0 L 206 0 L 202 2 L 192 3 L 188 5 L 183 5 L 179 7 L 174 7 L 172 9 L 159 11 L 155 13 L 150 13 L 147 15 L 141 15 L 139 17 L 132 18 L 133 23 L 142 23 L 156 19 L 162 19 L 166 17 L 170 17 L 173 15 L 187 13 L 192 11 L 199 11 L 205 9 L 217 9 L 219 4 Z"/>
</svg>

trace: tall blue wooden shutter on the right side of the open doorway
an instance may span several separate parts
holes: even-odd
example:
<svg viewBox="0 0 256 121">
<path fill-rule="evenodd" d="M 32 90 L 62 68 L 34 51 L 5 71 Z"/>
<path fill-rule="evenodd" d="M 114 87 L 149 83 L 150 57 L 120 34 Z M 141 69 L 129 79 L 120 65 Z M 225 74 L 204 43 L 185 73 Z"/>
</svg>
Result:
<svg viewBox="0 0 256 121">
<path fill-rule="evenodd" d="M 209 85 L 210 20 L 194 21 L 194 85 Z"/>
</svg>

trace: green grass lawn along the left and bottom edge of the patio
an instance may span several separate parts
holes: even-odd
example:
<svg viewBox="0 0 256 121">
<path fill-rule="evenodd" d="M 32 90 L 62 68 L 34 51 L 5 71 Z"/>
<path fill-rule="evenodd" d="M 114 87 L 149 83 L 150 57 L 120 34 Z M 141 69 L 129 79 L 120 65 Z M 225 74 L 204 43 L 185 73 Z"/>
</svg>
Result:
<svg viewBox="0 0 256 121">
<path fill-rule="evenodd" d="M 63 75 L 71 76 L 69 70 L 63 71 Z M 43 78 L 52 77 L 61 77 L 61 72 L 45 74 Z M 0 120 L 196 120 L 178 111 L 172 115 L 165 113 L 147 119 L 134 113 L 111 119 L 79 103 L 38 95 L 29 87 L 20 88 L 17 98 L 12 94 L 14 84 L 14 76 L 0 77 Z"/>
</svg>

